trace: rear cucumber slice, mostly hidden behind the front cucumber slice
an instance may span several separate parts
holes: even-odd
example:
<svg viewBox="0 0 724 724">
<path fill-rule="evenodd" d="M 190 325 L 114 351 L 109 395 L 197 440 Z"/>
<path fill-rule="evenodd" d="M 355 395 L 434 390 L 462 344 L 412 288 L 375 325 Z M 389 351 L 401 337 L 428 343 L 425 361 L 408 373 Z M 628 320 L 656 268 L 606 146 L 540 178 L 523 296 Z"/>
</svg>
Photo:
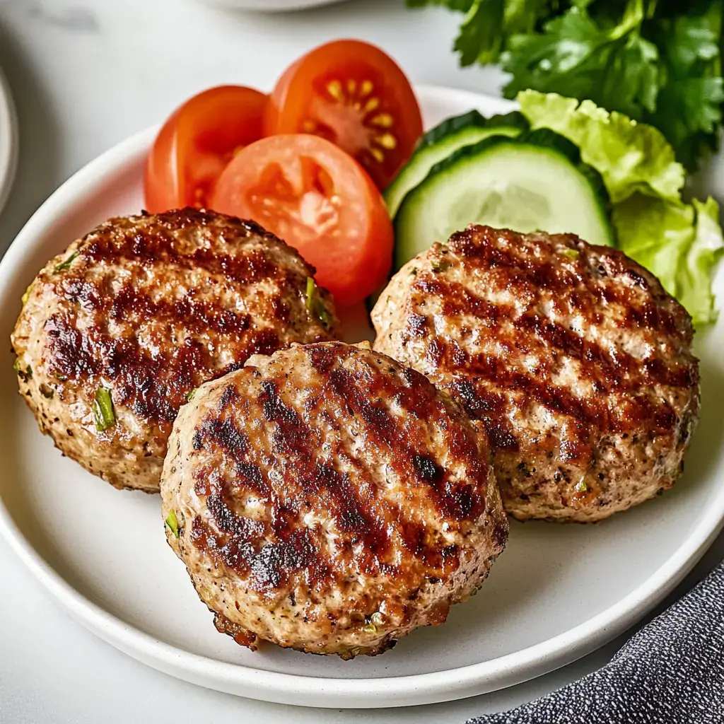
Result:
<svg viewBox="0 0 724 724">
<path fill-rule="evenodd" d="M 411 159 L 384 192 L 390 216 L 395 218 L 408 191 L 424 180 L 438 161 L 446 159 L 453 151 L 472 146 L 491 135 L 515 136 L 528 129 L 528 121 L 518 111 L 491 118 L 481 116 L 478 111 L 469 111 L 435 126 L 420 139 Z"/>
</svg>

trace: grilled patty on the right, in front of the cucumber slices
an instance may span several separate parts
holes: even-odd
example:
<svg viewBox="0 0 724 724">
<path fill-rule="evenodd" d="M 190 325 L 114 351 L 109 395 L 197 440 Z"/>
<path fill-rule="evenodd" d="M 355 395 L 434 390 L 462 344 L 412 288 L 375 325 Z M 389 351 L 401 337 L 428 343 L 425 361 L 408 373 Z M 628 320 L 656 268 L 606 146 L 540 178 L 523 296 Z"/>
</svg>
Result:
<svg viewBox="0 0 724 724">
<path fill-rule="evenodd" d="M 620 251 L 469 227 L 413 258 L 375 349 L 481 421 L 508 513 L 597 521 L 671 487 L 699 414 L 683 307 Z"/>
</svg>

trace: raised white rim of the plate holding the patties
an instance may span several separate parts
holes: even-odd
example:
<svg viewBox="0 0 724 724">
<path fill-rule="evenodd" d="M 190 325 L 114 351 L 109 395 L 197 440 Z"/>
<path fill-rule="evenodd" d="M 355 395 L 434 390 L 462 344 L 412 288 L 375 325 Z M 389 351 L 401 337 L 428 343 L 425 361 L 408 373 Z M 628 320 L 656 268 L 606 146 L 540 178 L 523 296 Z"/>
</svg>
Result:
<svg viewBox="0 0 724 724">
<path fill-rule="evenodd" d="M 505 111 L 511 101 L 468 90 L 417 85 L 423 104 L 446 99 L 471 107 Z M 104 185 L 125 169 L 125 161 L 149 148 L 157 126 L 140 131 L 102 153 L 64 182 L 30 217 L 0 261 L 0 288 L 12 282 L 14 269 L 33 251 L 29 243 L 43 238 L 62 219 L 68 203 Z M 324 678 L 281 673 L 221 662 L 155 639 L 96 605 L 71 586 L 35 550 L 14 523 L 0 497 L 0 535 L 72 618 L 104 641 L 153 668 L 185 681 L 230 694 L 268 702 L 329 708 L 399 707 L 431 704 L 504 689 L 594 651 L 636 623 L 660 603 L 691 571 L 724 526 L 724 487 L 704 511 L 676 552 L 632 592 L 584 623 L 525 649 L 463 667 L 387 678 Z"/>
</svg>

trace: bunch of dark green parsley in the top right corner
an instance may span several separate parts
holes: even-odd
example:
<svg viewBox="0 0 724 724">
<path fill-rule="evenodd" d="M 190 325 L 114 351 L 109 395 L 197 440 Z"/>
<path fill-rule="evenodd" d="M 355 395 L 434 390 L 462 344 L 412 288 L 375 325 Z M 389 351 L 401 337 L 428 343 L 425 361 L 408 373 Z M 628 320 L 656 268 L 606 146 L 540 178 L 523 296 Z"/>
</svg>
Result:
<svg viewBox="0 0 724 724">
<path fill-rule="evenodd" d="M 460 63 L 500 60 L 521 90 L 591 100 L 657 127 L 695 169 L 723 121 L 721 0 L 408 0 L 465 13 Z"/>
</svg>

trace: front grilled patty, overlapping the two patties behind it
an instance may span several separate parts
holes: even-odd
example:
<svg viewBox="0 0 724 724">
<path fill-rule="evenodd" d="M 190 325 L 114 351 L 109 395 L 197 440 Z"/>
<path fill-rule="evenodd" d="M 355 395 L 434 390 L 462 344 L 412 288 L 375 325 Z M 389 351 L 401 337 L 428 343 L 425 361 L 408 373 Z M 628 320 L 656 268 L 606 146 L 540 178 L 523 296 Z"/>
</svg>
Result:
<svg viewBox="0 0 724 724">
<path fill-rule="evenodd" d="M 421 374 L 342 342 L 203 384 L 161 497 L 216 628 L 252 649 L 383 652 L 476 592 L 508 535 L 485 434 Z"/>
</svg>

